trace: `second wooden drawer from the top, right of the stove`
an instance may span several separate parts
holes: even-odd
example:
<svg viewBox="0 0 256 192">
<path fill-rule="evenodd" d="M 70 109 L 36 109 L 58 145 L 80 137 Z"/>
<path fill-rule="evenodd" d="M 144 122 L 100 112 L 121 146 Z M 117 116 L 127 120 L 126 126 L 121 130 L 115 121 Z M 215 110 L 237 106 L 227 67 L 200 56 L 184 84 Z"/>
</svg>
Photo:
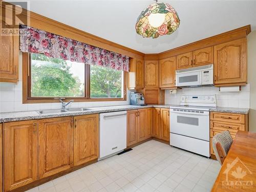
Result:
<svg viewBox="0 0 256 192">
<path fill-rule="evenodd" d="M 245 131 L 245 124 L 239 123 L 230 123 L 230 122 L 223 122 L 223 121 L 210 121 L 210 129 L 214 130 L 221 130 L 229 132 L 237 133 L 238 130 Z"/>
</svg>

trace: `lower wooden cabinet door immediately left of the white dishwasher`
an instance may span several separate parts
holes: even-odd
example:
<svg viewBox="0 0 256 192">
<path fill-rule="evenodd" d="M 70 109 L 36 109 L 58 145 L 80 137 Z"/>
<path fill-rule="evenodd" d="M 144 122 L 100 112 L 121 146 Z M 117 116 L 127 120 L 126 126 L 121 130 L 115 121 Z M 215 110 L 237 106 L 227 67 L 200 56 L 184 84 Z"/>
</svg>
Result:
<svg viewBox="0 0 256 192">
<path fill-rule="evenodd" d="M 99 114 L 74 117 L 74 165 L 99 156 Z"/>
</svg>

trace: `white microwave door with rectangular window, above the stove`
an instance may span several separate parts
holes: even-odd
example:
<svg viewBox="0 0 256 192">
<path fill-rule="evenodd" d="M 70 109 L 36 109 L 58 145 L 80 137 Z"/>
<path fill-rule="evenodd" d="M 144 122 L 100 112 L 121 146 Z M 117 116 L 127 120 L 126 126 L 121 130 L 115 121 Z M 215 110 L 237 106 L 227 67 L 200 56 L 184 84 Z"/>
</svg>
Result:
<svg viewBox="0 0 256 192">
<path fill-rule="evenodd" d="M 177 87 L 201 86 L 201 85 L 202 85 L 201 71 L 176 74 Z"/>
</svg>

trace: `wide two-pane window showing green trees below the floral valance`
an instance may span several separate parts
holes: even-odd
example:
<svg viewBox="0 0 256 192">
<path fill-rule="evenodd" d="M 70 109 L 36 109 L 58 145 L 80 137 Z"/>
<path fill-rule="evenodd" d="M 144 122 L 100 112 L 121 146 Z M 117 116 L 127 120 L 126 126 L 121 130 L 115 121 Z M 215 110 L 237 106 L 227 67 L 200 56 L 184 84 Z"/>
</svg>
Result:
<svg viewBox="0 0 256 192">
<path fill-rule="evenodd" d="M 50 58 L 44 54 L 24 55 L 28 58 L 24 62 L 29 63 L 27 103 L 34 99 L 56 102 L 53 99 L 60 97 L 75 101 L 126 99 L 123 71 Z"/>
</svg>

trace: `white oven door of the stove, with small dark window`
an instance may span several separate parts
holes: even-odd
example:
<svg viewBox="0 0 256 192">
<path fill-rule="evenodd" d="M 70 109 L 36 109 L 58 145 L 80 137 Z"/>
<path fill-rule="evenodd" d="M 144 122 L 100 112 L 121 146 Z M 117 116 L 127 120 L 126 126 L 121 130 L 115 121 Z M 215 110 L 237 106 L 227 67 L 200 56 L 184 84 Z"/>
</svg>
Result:
<svg viewBox="0 0 256 192">
<path fill-rule="evenodd" d="M 171 109 L 170 112 L 170 133 L 205 141 L 210 140 L 208 111 L 181 110 L 177 112 L 177 110 Z"/>
</svg>

